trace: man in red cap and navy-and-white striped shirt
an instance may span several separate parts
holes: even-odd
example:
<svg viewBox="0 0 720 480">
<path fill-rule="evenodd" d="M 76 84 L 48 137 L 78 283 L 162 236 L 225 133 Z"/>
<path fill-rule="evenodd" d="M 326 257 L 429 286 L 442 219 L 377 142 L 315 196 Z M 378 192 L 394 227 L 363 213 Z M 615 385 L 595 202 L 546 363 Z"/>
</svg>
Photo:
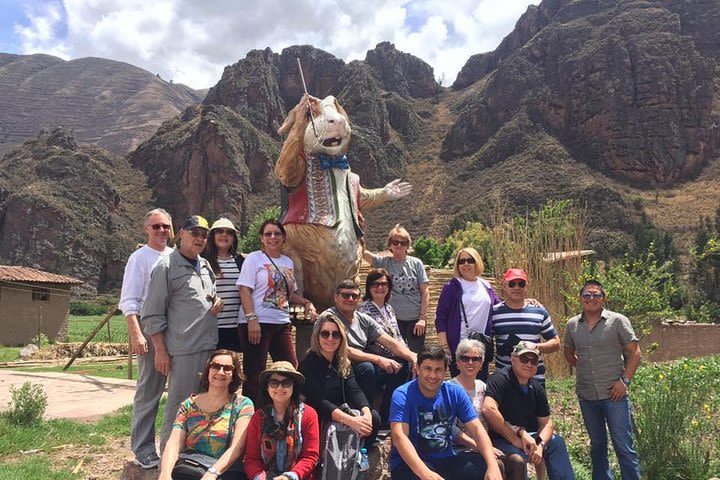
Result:
<svg viewBox="0 0 720 480">
<path fill-rule="evenodd" d="M 529 345 L 536 345 L 540 352 L 535 378 L 545 384 L 542 354 L 558 351 L 560 337 L 548 311 L 537 302 L 526 298 L 528 284 L 524 270 L 510 268 L 505 272 L 505 301 L 495 305 L 492 312 L 492 333 L 497 345 L 495 367 L 509 367 L 513 348 L 519 341 L 524 340 Z"/>
</svg>

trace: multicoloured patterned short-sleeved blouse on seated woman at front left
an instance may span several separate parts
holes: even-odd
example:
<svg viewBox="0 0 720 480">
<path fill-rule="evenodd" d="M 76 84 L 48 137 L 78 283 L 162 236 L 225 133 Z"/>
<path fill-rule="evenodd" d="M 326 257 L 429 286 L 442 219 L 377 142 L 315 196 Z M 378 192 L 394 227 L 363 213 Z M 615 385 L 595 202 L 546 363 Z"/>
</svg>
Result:
<svg viewBox="0 0 720 480">
<path fill-rule="evenodd" d="M 204 412 L 195 398 L 197 395 L 190 395 L 180 404 L 173 428 L 185 432 L 185 450 L 220 458 L 232 441 L 235 421 L 255 412 L 252 400 L 235 394 L 220 410 Z"/>
</svg>

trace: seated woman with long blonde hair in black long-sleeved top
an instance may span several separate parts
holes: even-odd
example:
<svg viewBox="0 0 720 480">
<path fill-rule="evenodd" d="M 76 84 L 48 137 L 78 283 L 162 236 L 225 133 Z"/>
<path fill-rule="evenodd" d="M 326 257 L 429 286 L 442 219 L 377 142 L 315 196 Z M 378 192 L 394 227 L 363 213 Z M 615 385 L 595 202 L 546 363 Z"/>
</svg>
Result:
<svg viewBox="0 0 720 480">
<path fill-rule="evenodd" d="M 306 379 L 303 386 L 305 400 L 317 409 L 323 429 L 330 421 L 342 423 L 365 437 L 366 446 L 372 445 L 380 429 L 380 415 L 370 408 L 355 381 L 347 357 L 345 327 L 335 315 L 326 315 L 315 322 L 310 349 L 300 362 L 300 372 Z M 361 415 L 343 411 L 343 404 L 359 410 Z"/>
</svg>

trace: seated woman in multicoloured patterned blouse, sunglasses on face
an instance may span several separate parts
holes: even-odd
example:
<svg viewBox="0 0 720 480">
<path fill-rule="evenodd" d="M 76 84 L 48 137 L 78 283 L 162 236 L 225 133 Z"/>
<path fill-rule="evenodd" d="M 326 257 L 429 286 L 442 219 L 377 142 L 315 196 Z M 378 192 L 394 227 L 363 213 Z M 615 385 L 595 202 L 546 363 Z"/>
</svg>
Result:
<svg viewBox="0 0 720 480">
<path fill-rule="evenodd" d="M 202 393 L 180 404 L 160 463 L 159 480 L 172 480 L 181 453 L 193 452 L 217 459 L 208 474 L 223 479 L 244 479 L 240 458 L 245 448 L 253 403 L 237 393 L 243 382 L 240 358 L 230 350 L 216 350 L 201 378 Z M 206 474 L 207 476 L 207 474 Z M 205 477 L 203 477 L 205 478 Z"/>
</svg>

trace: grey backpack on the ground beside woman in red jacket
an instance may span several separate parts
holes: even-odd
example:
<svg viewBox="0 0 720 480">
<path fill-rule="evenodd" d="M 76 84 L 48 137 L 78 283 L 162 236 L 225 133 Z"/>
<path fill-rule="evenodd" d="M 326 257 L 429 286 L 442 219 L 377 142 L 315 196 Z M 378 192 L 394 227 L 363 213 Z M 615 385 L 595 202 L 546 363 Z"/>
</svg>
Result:
<svg viewBox="0 0 720 480">
<path fill-rule="evenodd" d="M 358 410 L 352 412 L 359 416 Z M 358 475 L 360 434 L 339 422 L 327 422 L 323 429 L 318 480 L 355 480 Z"/>
</svg>

